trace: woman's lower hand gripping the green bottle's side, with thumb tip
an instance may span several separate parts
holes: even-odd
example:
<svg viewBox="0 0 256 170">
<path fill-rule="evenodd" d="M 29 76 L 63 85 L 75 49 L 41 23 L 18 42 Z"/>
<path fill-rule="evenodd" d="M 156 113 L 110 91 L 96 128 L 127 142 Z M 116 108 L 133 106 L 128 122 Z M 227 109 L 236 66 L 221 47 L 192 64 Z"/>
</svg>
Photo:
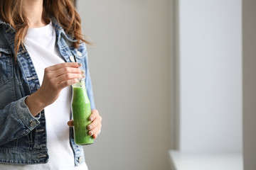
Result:
<svg viewBox="0 0 256 170">
<path fill-rule="evenodd" d="M 92 114 L 90 115 L 89 120 L 92 122 L 87 126 L 87 129 L 90 130 L 89 135 L 96 139 L 102 127 L 102 117 L 99 115 L 97 110 L 92 110 Z M 73 120 L 68 121 L 68 125 L 72 127 Z"/>
</svg>

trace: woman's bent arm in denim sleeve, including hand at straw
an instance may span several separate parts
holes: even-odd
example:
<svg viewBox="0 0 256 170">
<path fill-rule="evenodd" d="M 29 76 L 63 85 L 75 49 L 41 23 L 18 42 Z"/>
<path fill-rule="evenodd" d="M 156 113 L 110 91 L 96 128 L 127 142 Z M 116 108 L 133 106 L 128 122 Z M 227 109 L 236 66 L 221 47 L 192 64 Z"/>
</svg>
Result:
<svg viewBox="0 0 256 170">
<path fill-rule="evenodd" d="M 42 86 L 38 91 L 1 109 L 0 146 L 28 135 L 36 128 L 40 122 L 35 116 L 53 103 L 63 88 L 85 77 L 85 72 L 78 68 L 80 66 L 80 63 L 69 62 L 46 68 Z"/>
</svg>

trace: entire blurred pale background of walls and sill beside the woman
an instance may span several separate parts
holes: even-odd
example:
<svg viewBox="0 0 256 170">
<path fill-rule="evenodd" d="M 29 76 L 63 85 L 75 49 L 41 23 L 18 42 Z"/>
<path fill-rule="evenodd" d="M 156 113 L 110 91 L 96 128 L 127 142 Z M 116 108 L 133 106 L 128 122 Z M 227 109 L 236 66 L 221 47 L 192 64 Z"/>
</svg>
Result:
<svg viewBox="0 0 256 170">
<path fill-rule="evenodd" d="M 256 169 L 255 1 L 76 5 L 103 118 L 90 170 Z"/>
</svg>

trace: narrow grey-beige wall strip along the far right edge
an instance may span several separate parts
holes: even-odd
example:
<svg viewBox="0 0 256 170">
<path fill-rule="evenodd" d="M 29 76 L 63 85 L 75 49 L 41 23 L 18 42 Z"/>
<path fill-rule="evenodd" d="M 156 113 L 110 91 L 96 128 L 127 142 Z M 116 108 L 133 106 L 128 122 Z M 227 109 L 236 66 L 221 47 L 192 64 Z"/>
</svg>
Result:
<svg viewBox="0 0 256 170">
<path fill-rule="evenodd" d="M 256 169 L 256 1 L 242 1 L 244 169 Z"/>
</svg>

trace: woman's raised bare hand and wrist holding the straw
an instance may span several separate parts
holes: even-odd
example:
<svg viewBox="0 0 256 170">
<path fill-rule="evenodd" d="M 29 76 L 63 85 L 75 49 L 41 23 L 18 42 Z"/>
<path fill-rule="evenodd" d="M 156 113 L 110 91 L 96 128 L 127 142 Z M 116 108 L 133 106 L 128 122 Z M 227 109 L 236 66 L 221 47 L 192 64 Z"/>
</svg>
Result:
<svg viewBox="0 0 256 170">
<path fill-rule="evenodd" d="M 81 66 L 82 64 L 78 62 L 65 62 L 47 67 L 41 88 L 26 98 L 26 106 L 31 114 L 36 116 L 60 96 L 62 89 L 84 78 L 85 72 L 78 68 Z"/>
</svg>

